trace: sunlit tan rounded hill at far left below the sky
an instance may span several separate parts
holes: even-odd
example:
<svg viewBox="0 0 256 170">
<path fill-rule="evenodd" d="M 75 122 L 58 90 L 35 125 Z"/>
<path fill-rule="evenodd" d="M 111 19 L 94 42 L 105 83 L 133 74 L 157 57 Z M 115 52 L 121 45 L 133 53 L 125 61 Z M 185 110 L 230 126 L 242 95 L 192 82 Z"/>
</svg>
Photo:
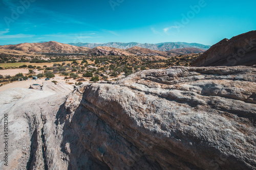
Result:
<svg viewBox="0 0 256 170">
<path fill-rule="evenodd" d="M 35 53 L 85 53 L 90 48 L 78 47 L 69 44 L 63 44 L 56 41 L 49 41 L 43 43 L 21 43 L 16 45 L 3 45 L 0 48 L 7 50 L 17 50 L 23 52 Z"/>
</svg>

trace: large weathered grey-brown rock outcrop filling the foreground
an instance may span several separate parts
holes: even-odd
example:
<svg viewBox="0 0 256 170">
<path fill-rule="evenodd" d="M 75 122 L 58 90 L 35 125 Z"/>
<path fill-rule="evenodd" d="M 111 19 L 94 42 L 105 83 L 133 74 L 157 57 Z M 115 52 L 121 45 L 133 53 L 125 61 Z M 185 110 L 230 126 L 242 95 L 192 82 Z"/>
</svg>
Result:
<svg viewBox="0 0 256 170">
<path fill-rule="evenodd" d="M 5 112 L 29 127 L 28 169 L 255 169 L 255 81 L 243 66 L 144 70 Z"/>
</svg>

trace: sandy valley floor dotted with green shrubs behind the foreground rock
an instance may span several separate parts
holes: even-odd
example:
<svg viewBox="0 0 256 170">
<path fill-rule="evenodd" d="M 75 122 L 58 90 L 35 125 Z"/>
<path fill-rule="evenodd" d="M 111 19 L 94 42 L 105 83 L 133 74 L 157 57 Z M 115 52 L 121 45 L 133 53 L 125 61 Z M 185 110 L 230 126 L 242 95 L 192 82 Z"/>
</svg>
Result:
<svg viewBox="0 0 256 170">
<path fill-rule="evenodd" d="M 190 66 L 190 63 L 197 57 L 199 54 L 179 55 L 171 58 L 156 56 L 147 56 L 146 58 L 144 56 L 50 56 L 47 61 L 37 57 L 31 57 L 31 60 L 21 57 L 20 61 L 24 62 L 14 62 L 17 58 L 0 56 L 0 69 L 29 68 L 29 74 L 23 75 L 23 77 L 31 77 L 33 69 L 37 69 L 44 70 L 44 73 L 36 75 L 38 78 L 53 78 L 54 74 L 58 74 L 65 76 L 66 80 L 72 78 L 77 82 L 82 82 L 86 81 L 82 78 L 84 77 L 96 82 L 120 80 L 124 77 L 123 75 L 126 77 L 145 69 L 167 68 L 174 65 Z M 16 79 L 8 76 L 1 80 L 8 82 Z"/>
</svg>

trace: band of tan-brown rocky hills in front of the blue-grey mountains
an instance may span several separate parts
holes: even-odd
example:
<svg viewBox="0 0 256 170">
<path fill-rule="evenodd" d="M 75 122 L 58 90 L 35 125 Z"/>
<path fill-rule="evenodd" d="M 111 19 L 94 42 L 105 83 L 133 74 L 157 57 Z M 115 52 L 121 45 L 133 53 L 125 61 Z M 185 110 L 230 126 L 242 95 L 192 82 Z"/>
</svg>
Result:
<svg viewBox="0 0 256 170">
<path fill-rule="evenodd" d="M 92 56 L 162 56 L 172 57 L 191 53 L 202 53 L 205 50 L 199 48 L 178 48 L 170 51 L 151 50 L 139 46 L 133 46 L 127 49 L 96 46 L 94 48 L 84 46 L 74 46 L 63 44 L 56 41 L 21 43 L 16 45 L 0 46 L 0 54 L 20 55 L 24 53 L 86 53 Z"/>
</svg>

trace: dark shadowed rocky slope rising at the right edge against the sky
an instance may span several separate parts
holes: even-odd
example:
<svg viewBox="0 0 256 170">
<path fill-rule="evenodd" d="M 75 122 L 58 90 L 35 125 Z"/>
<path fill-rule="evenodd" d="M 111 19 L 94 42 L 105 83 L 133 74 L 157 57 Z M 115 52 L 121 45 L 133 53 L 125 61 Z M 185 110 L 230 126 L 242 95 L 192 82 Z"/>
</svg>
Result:
<svg viewBox="0 0 256 170">
<path fill-rule="evenodd" d="M 256 31 L 223 39 L 212 45 L 192 66 L 235 66 L 256 64 Z"/>
</svg>

